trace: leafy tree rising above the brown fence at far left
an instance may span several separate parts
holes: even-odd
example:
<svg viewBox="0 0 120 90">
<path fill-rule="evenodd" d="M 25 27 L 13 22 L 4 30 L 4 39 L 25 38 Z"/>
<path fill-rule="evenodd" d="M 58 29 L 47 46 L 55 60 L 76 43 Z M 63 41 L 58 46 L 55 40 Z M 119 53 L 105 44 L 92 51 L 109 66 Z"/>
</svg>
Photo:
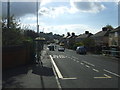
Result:
<svg viewBox="0 0 120 90">
<path fill-rule="evenodd" d="M 10 27 L 7 27 L 7 20 L 2 19 L 2 44 L 3 46 L 21 44 L 23 35 L 21 34 L 20 24 L 14 18 L 10 17 Z"/>
</svg>

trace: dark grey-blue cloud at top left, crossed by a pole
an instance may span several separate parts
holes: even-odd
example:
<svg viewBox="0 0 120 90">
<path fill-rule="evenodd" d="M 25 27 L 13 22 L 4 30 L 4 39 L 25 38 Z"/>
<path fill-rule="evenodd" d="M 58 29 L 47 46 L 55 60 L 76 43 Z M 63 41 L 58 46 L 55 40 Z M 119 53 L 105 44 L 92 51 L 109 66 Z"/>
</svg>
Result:
<svg viewBox="0 0 120 90">
<path fill-rule="evenodd" d="M 26 14 L 36 13 L 36 2 L 10 2 L 10 14 L 22 17 Z M 2 16 L 7 15 L 7 2 L 2 2 Z"/>
</svg>

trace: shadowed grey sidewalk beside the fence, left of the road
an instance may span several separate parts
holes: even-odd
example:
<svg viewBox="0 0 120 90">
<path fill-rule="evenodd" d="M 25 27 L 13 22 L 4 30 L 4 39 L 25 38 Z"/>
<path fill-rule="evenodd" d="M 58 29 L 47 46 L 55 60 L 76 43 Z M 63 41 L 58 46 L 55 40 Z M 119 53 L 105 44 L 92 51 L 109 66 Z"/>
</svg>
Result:
<svg viewBox="0 0 120 90">
<path fill-rule="evenodd" d="M 32 64 L 3 72 L 3 88 L 58 88 L 47 50 L 42 51 L 43 67 Z"/>
</svg>

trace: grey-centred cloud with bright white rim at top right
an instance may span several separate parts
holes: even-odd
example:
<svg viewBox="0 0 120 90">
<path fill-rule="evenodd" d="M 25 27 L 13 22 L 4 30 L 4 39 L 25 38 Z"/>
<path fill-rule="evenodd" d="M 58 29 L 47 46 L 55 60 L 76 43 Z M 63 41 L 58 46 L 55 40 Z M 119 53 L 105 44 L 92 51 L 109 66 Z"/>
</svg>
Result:
<svg viewBox="0 0 120 90">
<path fill-rule="evenodd" d="M 70 1 L 72 8 L 76 8 L 80 12 L 87 12 L 87 13 L 99 13 L 100 11 L 104 10 L 106 7 L 101 4 L 100 2 L 84 2 L 84 1 Z"/>
</svg>

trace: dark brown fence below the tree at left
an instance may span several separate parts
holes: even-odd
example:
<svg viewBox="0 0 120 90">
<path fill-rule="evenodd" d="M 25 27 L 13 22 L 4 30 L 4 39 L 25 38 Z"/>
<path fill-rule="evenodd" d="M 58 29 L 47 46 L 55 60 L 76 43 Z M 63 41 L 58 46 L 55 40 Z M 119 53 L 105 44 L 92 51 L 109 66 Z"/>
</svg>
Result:
<svg viewBox="0 0 120 90">
<path fill-rule="evenodd" d="M 19 45 L 2 48 L 2 68 L 14 68 L 31 62 L 31 45 Z"/>
</svg>

